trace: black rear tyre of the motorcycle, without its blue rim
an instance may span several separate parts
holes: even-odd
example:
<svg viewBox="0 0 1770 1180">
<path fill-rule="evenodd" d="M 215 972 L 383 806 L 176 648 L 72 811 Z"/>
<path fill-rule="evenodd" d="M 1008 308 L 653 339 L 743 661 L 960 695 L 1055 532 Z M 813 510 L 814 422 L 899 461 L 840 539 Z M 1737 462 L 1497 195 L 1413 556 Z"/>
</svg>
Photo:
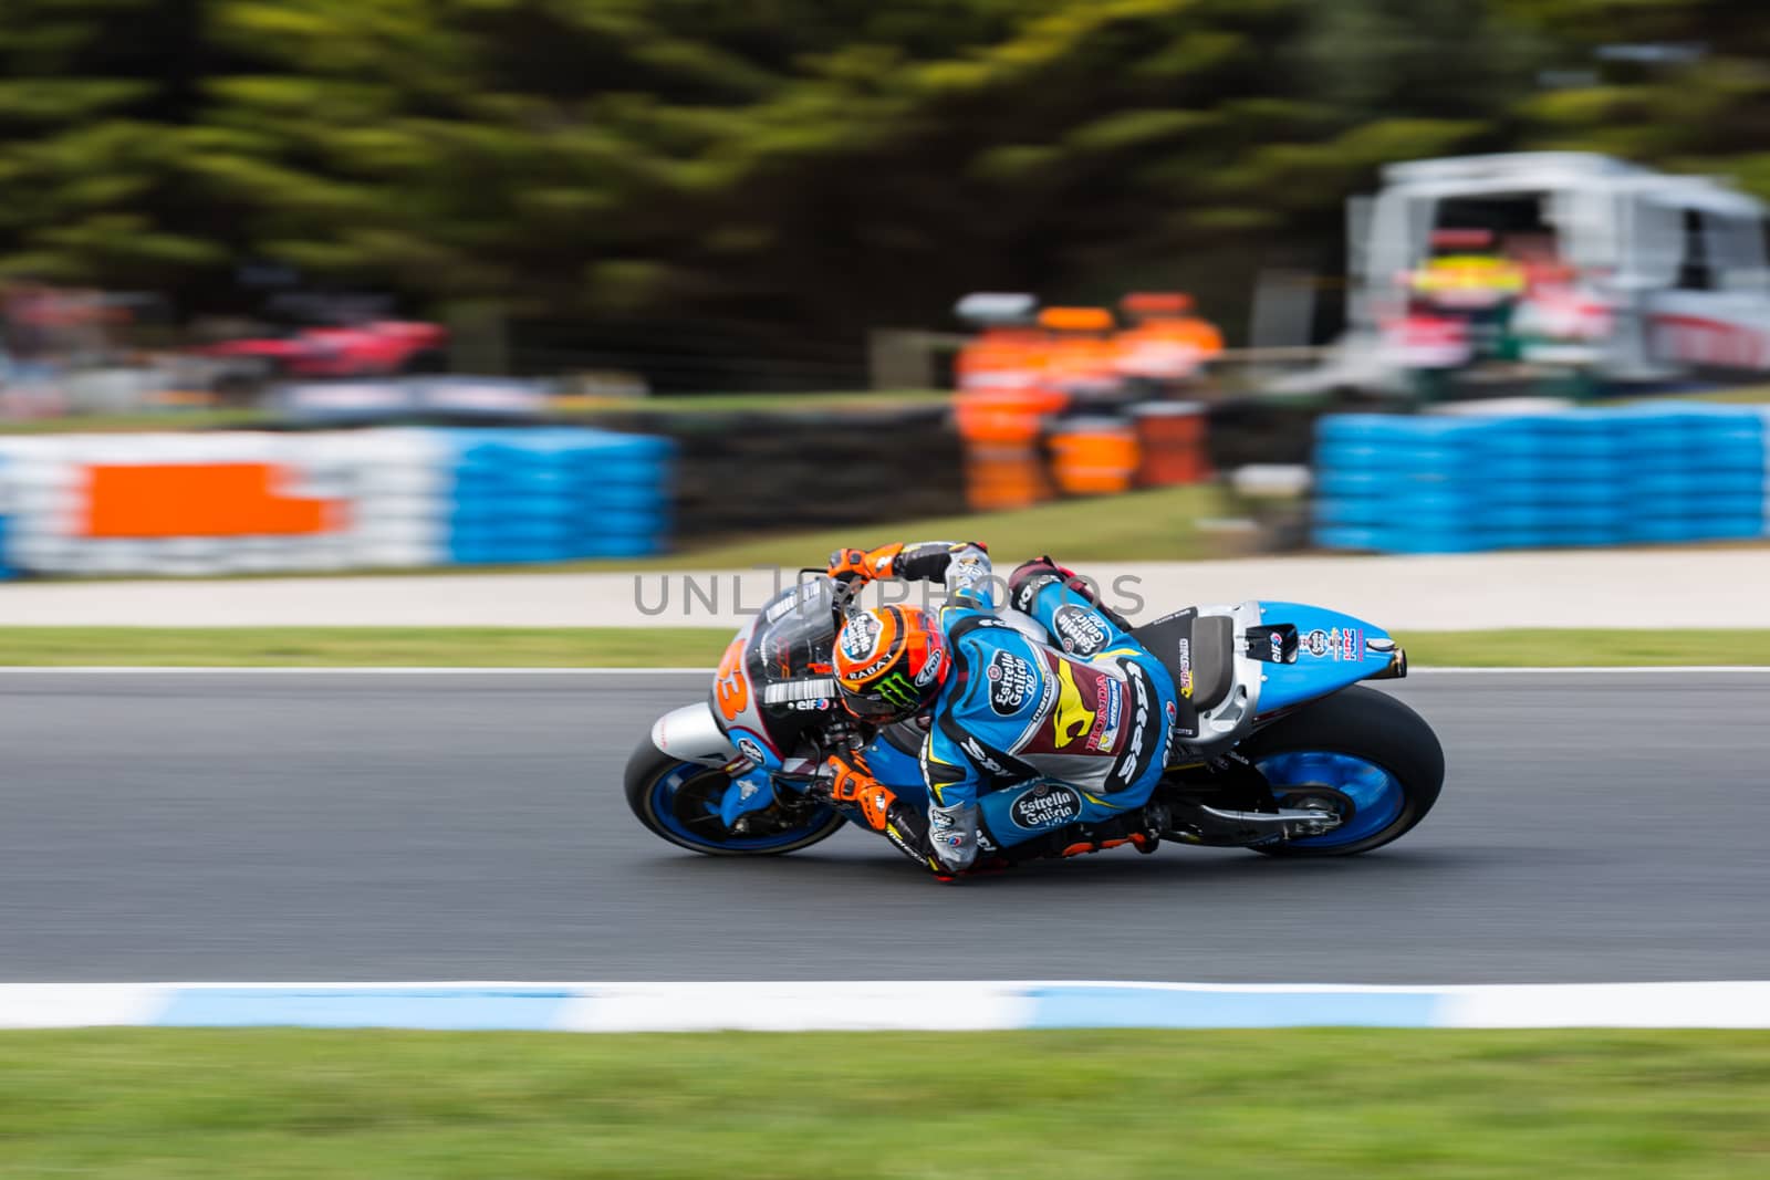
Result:
<svg viewBox="0 0 1770 1180">
<path fill-rule="evenodd" d="M 1400 839 L 1414 828 L 1444 789 L 1444 748 L 1423 716 L 1386 692 L 1354 685 L 1273 722 L 1239 748 L 1248 759 L 1289 752 L 1349 754 L 1393 775 L 1402 808 L 1393 821 L 1361 840 L 1340 846 L 1269 844 L 1266 856 L 1356 856 Z M 1281 791 L 1285 784 L 1273 784 Z"/>
</svg>

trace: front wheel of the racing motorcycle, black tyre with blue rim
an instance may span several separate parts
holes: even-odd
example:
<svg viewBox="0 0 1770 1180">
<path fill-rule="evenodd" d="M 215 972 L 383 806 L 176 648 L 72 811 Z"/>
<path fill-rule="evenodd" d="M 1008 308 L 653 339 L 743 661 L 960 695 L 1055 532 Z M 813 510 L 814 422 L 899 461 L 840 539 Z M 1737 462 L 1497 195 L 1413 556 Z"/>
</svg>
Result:
<svg viewBox="0 0 1770 1180">
<path fill-rule="evenodd" d="M 736 835 L 726 830 L 717 801 L 731 777 L 717 766 L 680 762 L 658 750 L 651 738 L 627 759 L 627 805 L 658 839 L 706 856 L 781 856 L 827 840 L 846 821 L 832 807 L 809 817 L 781 823 L 772 831 Z M 712 807 L 712 810 L 710 810 Z M 754 812 L 752 824 L 768 824 L 770 812 Z"/>
</svg>

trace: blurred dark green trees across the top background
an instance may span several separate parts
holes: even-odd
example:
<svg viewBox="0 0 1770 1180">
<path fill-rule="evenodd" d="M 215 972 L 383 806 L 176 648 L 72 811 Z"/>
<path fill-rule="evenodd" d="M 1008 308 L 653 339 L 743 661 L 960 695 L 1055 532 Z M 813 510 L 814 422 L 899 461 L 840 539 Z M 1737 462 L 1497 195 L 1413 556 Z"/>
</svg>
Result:
<svg viewBox="0 0 1770 1180">
<path fill-rule="evenodd" d="M 853 340 L 956 294 L 1338 264 L 1391 159 L 1589 147 L 1770 196 L 1736 0 L 9 0 L 0 272 L 227 308 Z"/>
</svg>

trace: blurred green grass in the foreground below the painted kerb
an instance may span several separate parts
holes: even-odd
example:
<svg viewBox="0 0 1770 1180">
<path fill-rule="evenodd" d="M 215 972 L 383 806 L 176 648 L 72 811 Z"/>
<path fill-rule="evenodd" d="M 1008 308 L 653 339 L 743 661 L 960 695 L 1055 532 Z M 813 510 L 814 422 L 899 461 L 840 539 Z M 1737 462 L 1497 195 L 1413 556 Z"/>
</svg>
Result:
<svg viewBox="0 0 1770 1180">
<path fill-rule="evenodd" d="M 0 1175 L 1720 1180 L 1770 1033 L 0 1035 Z"/>
</svg>

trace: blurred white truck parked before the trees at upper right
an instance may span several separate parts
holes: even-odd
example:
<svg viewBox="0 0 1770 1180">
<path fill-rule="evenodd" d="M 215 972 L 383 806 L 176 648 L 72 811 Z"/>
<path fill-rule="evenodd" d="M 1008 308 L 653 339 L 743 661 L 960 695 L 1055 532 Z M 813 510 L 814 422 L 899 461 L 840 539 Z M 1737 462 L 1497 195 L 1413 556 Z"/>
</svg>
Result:
<svg viewBox="0 0 1770 1180">
<path fill-rule="evenodd" d="M 1411 350 L 1409 326 L 1416 345 L 1432 338 L 1434 292 L 1499 274 L 1522 313 L 1510 324 L 1538 345 L 1508 359 L 1604 382 L 1770 372 L 1766 211 L 1720 180 L 1586 152 L 1420 159 L 1382 180 L 1349 207 L 1349 333 L 1329 370 L 1404 384 L 1411 368 L 1453 366 Z"/>
</svg>

